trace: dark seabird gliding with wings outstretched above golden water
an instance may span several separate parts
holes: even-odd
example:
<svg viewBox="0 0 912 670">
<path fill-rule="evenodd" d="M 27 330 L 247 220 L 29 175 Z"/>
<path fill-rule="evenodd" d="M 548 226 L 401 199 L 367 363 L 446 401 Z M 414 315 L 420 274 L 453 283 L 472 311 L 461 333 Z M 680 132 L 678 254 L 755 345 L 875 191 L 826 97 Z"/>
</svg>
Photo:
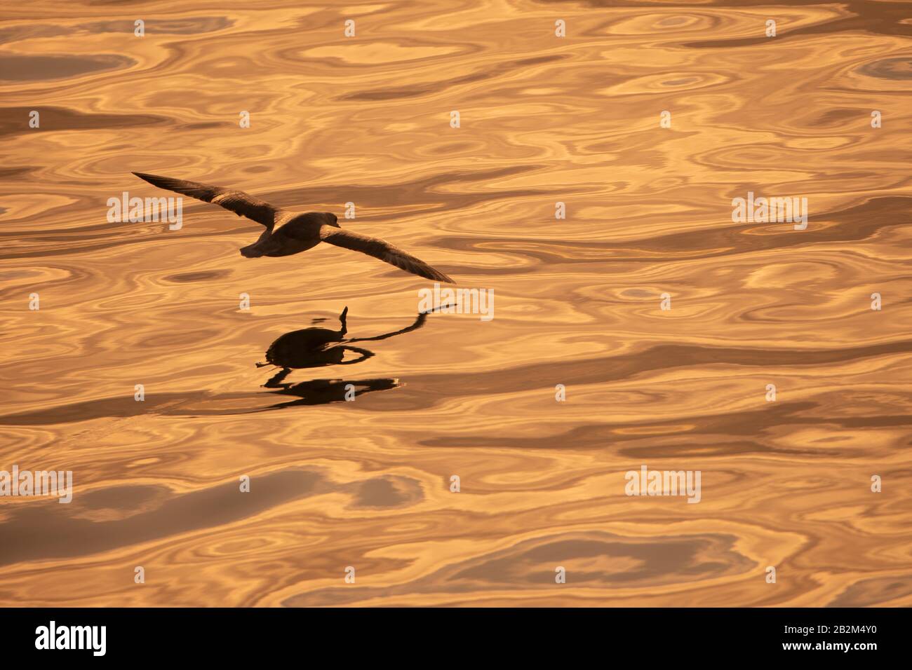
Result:
<svg viewBox="0 0 912 670">
<path fill-rule="evenodd" d="M 161 189 L 189 195 L 197 200 L 221 205 L 238 216 L 245 216 L 251 221 L 260 223 L 266 229 L 260 238 L 241 248 L 244 258 L 260 256 L 290 256 L 315 247 L 320 242 L 334 244 L 337 247 L 351 249 L 354 252 L 367 253 L 384 263 L 395 265 L 407 273 L 417 274 L 435 282 L 455 283 L 446 274 L 430 267 L 410 253 L 389 242 L 368 237 L 358 232 L 342 230 L 336 214 L 328 211 L 308 211 L 298 213 L 285 211 L 279 207 L 254 198 L 244 191 L 233 191 L 221 186 L 209 186 L 197 181 L 160 177 L 155 174 L 133 172 L 141 180 Z"/>
</svg>

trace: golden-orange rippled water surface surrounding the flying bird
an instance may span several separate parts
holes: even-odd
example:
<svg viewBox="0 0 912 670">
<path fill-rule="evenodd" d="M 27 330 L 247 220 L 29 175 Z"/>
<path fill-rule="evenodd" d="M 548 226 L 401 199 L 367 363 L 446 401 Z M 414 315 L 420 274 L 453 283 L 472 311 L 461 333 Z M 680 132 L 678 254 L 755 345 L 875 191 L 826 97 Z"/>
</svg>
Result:
<svg viewBox="0 0 912 670">
<path fill-rule="evenodd" d="M 0 498 L 0 603 L 912 604 L 912 3 L 39 9 L 0 24 L 0 469 L 75 493 Z M 109 223 L 174 195 L 132 170 L 336 212 L 495 316 L 242 258 L 212 204 Z M 346 306 L 395 335 L 255 365 Z"/>
</svg>

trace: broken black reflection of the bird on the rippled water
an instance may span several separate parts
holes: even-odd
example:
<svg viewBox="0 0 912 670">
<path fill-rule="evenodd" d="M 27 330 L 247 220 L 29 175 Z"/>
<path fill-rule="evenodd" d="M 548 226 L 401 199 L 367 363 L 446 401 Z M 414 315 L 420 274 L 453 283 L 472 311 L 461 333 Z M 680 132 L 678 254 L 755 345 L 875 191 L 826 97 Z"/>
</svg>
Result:
<svg viewBox="0 0 912 670">
<path fill-rule="evenodd" d="M 430 312 L 419 314 L 414 323 L 392 333 L 353 338 L 346 337 L 347 314 L 348 308 L 346 307 L 342 310 L 342 314 L 339 314 L 340 327 L 338 330 L 318 327 L 304 328 L 285 333 L 272 345 L 269 345 L 266 350 L 266 362 L 257 363 L 256 366 L 276 366 L 281 369 L 263 385 L 264 388 L 275 389 L 275 393 L 278 394 L 297 397 L 296 400 L 275 405 L 275 408 L 294 405 L 323 405 L 340 400 L 353 400 L 355 397 L 371 391 L 382 391 L 399 386 L 399 379 L 391 377 L 352 380 L 313 379 L 297 384 L 285 382 L 285 377 L 295 369 L 351 366 L 367 360 L 374 356 L 374 353 L 363 347 L 353 346 L 353 343 L 375 342 L 418 330 L 428 320 Z M 354 357 L 346 358 L 347 355 L 354 355 Z"/>
</svg>

